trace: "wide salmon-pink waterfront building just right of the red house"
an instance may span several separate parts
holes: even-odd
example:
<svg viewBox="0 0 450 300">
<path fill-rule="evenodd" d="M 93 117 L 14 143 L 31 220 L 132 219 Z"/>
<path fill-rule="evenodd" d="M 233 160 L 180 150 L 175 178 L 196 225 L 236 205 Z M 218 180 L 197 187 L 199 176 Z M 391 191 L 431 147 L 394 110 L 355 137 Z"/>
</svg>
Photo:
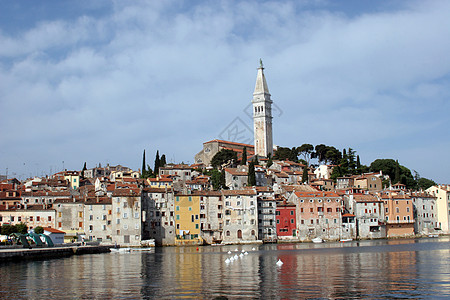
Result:
<svg viewBox="0 0 450 300">
<path fill-rule="evenodd" d="M 294 192 L 289 202 L 296 205 L 300 240 L 320 237 L 338 240 L 342 234 L 342 199 L 334 192 Z"/>
</svg>

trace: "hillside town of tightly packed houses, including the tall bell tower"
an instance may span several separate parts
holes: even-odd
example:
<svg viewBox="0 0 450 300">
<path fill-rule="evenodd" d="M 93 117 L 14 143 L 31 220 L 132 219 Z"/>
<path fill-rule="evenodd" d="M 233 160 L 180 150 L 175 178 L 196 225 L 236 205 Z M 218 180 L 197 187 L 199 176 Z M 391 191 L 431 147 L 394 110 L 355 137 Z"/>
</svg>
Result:
<svg viewBox="0 0 450 300">
<path fill-rule="evenodd" d="M 24 181 L 6 178 L 0 182 L 0 225 L 43 227 L 63 233 L 65 242 L 121 246 L 449 233 L 450 185 L 412 188 L 401 183 L 398 163 L 391 174 L 361 167 L 359 157 L 344 166 L 333 159 L 342 158 L 333 147 L 319 157 L 325 163 L 310 165 L 311 145 L 293 156 L 274 146 L 272 103 L 261 62 L 252 100 L 253 145 L 210 140 L 192 165 L 158 157 L 150 170 L 144 152 L 140 170 L 98 165 Z"/>
</svg>

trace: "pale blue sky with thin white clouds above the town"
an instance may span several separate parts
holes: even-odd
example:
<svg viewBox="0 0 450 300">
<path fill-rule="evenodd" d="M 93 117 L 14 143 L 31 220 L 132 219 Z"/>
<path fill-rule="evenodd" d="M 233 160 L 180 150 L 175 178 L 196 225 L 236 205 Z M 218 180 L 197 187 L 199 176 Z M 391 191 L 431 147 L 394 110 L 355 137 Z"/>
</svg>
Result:
<svg viewBox="0 0 450 300">
<path fill-rule="evenodd" d="M 0 174 L 252 143 L 262 59 L 274 144 L 352 148 L 450 183 L 449 1 L 0 0 Z"/>
</svg>

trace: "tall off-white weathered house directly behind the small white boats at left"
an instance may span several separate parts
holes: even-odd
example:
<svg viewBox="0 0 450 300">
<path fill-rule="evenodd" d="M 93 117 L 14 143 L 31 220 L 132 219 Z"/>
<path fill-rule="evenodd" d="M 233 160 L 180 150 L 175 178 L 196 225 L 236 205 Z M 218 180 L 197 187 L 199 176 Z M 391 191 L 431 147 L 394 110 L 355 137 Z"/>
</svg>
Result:
<svg viewBox="0 0 450 300">
<path fill-rule="evenodd" d="M 141 243 L 141 192 L 116 189 L 112 194 L 112 242 L 139 246 Z"/>
</svg>

